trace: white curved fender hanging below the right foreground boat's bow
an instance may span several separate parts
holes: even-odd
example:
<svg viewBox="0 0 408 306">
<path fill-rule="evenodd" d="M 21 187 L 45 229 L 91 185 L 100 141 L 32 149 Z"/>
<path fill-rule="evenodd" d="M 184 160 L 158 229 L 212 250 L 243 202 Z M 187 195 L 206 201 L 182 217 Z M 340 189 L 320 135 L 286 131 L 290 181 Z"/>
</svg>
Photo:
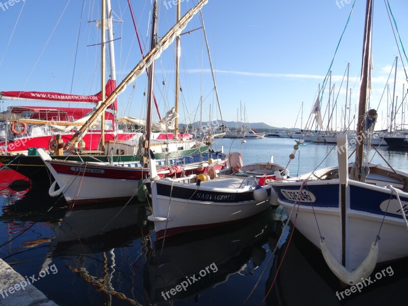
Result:
<svg viewBox="0 0 408 306">
<path fill-rule="evenodd" d="M 347 270 L 334 258 L 327 248 L 324 240 L 320 240 L 320 249 L 327 266 L 337 276 L 337 278 L 340 279 L 340 281 L 347 285 L 355 285 L 360 283 L 362 279 L 365 279 L 371 275 L 375 265 L 377 264 L 378 243 L 375 242 L 371 244 L 371 248 L 366 259 L 360 264 L 360 266 L 356 267 L 352 271 Z"/>
</svg>

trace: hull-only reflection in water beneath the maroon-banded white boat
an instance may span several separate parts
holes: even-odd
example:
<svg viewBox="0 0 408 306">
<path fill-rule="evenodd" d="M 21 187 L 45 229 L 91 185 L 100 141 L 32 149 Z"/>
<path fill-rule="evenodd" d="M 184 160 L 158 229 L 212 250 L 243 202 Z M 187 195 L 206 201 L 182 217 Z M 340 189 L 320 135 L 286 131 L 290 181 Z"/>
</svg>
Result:
<svg viewBox="0 0 408 306">
<path fill-rule="evenodd" d="M 57 234 L 50 244 L 48 258 L 126 247 L 150 232 L 146 227 L 145 203 L 112 202 L 103 208 L 78 207 L 69 209 L 55 228 Z"/>
</svg>

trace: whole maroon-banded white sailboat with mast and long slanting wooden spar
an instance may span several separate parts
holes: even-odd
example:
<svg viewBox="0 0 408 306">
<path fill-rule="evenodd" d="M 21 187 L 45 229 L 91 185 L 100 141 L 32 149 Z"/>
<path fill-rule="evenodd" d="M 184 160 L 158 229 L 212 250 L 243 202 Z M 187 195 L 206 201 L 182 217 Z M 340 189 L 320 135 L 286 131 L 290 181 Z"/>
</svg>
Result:
<svg viewBox="0 0 408 306">
<path fill-rule="evenodd" d="M 194 14 L 207 1 L 201 1 L 194 9 L 191 9 L 183 18 L 174 25 L 169 32 L 163 36 L 163 38 L 156 42 L 156 18 L 152 19 L 154 22 L 152 26 L 152 41 L 150 52 L 139 62 L 139 64 L 132 70 L 132 72 L 125 78 L 124 81 L 113 91 L 113 93 L 101 104 L 94 114 L 92 114 L 89 122 L 92 122 L 94 118 L 98 116 L 98 112 L 102 112 L 104 108 L 108 107 L 116 95 L 124 90 L 126 84 L 133 82 L 136 75 L 141 74 L 145 68 L 150 66 L 149 73 L 149 90 L 147 100 L 147 116 L 146 116 L 146 139 L 140 145 L 139 149 L 143 148 L 141 152 L 141 162 L 74 162 L 74 161 L 62 161 L 52 160 L 44 150 L 38 149 L 37 152 L 41 159 L 44 161 L 48 170 L 55 178 L 55 182 L 49 189 L 49 194 L 56 196 L 60 193 L 64 195 L 65 200 L 72 203 L 85 203 L 85 202 L 106 202 L 111 200 L 129 198 L 136 196 L 138 191 L 143 191 L 142 185 L 138 185 L 138 182 L 146 179 L 150 173 L 149 169 L 145 167 L 147 161 L 147 153 L 151 152 L 151 155 L 155 157 L 155 143 L 151 141 L 151 105 L 152 105 L 152 92 L 153 92 L 153 78 L 154 78 L 154 64 L 155 59 L 160 56 L 163 50 L 171 43 L 171 41 L 180 34 L 180 31 L 185 28 L 187 22 Z M 154 16 L 157 13 L 157 3 L 155 2 Z M 148 64 L 148 65 L 147 65 Z M 152 65 L 152 66 L 151 66 Z M 87 122 L 81 129 L 75 134 L 71 142 L 78 139 L 84 131 L 87 129 Z M 176 134 L 177 135 L 177 134 Z M 171 144 L 177 145 L 179 142 L 168 142 L 166 144 L 169 147 Z M 163 144 L 159 144 L 161 148 Z M 180 145 L 180 144 L 179 144 Z M 65 147 L 69 144 L 65 144 Z M 165 148 L 166 148 L 165 146 Z M 149 148 L 147 150 L 146 148 Z M 178 148 L 180 150 L 180 148 Z M 175 150 L 177 151 L 177 150 Z M 163 151 L 159 151 L 161 153 Z M 210 152 L 206 154 L 195 154 L 191 156 L 178 155 L 174 158 L 165 158 L 161 160 L 155 159 L 155 167 L 159 166 L 157 175 L 159 176 L 185 176 L 200 174 L 207 172 L 210 168 L 214 171 L 222 170 L 226 166 L 225 155 L 222 152 Z M 60 187 L 56 190 L 56 184 Z M 139 199 L 145 197 L 139 194 Z"/>
</svg>

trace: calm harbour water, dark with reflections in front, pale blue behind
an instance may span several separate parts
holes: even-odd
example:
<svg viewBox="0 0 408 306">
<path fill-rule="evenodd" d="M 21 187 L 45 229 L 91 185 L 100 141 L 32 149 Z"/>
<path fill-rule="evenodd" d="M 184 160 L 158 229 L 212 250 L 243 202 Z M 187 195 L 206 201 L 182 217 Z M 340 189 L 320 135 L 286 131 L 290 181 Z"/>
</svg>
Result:
<svg viewBox="0 0 408 306">
<path fill-rule="evenodd" d="M 223 139 L 217 149 L 241 151 L 244 164 L 273 156 L 286 165 L 294 144 L 265 138 L 241 146 L 239 139 Z M 288 166 L 291 175 L 314 170 L 326 156 L 321 167 L 336 165 L 332 148 L 300 147 Z M 408 151 L 379 151 L 393 167 L 408 171 Z M 373 161 L 385 164 L 379 156 Z M 0 171 L 0 257 L 23 276 L 37 277 L 49 267 L 34 285 L 60 305 L 406 305 L 407 260 L 389 263 L 392 275 L 339 300 L 336 292 L 346 288 L 313 245 L 297 231 L 291 236 L 291 226 L 284 228 L 287 216 L 280 208 L 158 243 L 154 224 L 146 221 L 148 203 L 71 209 L 50 198 L 47 187 L 30 188 L 21 179 Z M 16 180 L 14 190 L 7 187 Z"/>
</svg>

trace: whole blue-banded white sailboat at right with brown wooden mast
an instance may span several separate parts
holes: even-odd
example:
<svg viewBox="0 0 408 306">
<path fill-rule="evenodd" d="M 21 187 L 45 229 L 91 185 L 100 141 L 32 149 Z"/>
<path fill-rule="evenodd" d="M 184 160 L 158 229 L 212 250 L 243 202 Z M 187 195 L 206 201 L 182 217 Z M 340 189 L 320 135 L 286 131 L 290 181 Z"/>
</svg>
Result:
<svg viewBox="0 0 408 306">
<path fill-rule="evenodd" d="M 338 135 L 337 167 L 270 183 L 297 230 L 348 285 L 369 277 L 377 264 L 408 256 L 408 173 L 364 162 L 377 117 L 366 111 L 372 14 L 373 0 L 367 0 L 355 162 L 348 164 L 347 136 Z"/>
</svg>

